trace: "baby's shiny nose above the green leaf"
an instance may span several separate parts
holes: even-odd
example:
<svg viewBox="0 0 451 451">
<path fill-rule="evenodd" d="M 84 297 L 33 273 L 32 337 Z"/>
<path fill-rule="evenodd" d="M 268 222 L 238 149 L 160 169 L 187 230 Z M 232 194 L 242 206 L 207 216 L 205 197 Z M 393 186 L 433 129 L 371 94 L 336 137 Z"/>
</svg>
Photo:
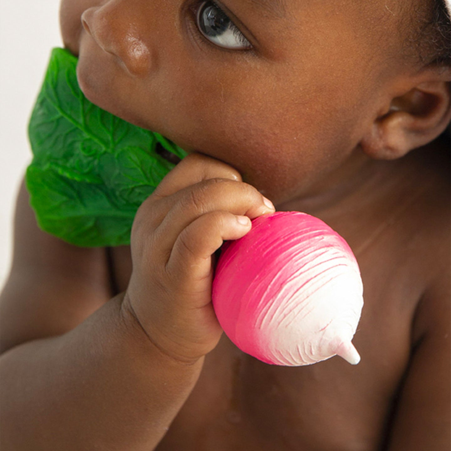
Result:
<svg viewBox="0 0 451 451">
<path fill-rule="evenodd" d="M 128 0 L 110 0 L 82 14 L 83 28 L 107 53 L 117 56 L 130 74 L 146 76 L 156 55 L 140 33 L 143 18 L 135 17 Z"/>
</svg>

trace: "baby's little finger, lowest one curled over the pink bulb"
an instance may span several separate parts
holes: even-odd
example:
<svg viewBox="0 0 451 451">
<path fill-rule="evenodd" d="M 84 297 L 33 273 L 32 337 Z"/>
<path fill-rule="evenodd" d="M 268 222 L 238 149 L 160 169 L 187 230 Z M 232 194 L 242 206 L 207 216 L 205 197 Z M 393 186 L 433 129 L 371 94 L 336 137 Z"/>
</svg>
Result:
<svg viewBox="0 0 451 451">
<path fill-rule="evenodd" d="M 186 290 L 198 291 L 199 283 L 204 286 L 205 280 L 212 276 L 212 254 L 223 241 L 239 239 L 250 229 L 247 216 L 221 211 L 199 216 L 176 239 L 166 264 L 167 272 Z"/>
</svg>

